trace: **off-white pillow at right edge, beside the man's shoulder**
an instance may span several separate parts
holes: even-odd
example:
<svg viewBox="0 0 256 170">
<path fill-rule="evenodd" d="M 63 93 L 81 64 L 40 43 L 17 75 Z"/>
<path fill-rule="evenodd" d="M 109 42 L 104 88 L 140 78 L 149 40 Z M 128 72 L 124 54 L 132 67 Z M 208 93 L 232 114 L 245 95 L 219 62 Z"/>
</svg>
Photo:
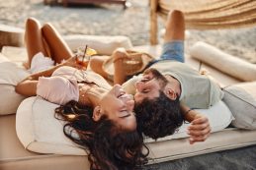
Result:
<svg viewBox="0 0 256 170">
<path fill-rule="evenodd" d="M 223 89 L 223 101 L 229 107 L 236 128 L 256 130 L 256 82 L 230 85 Z"/>
</svg>

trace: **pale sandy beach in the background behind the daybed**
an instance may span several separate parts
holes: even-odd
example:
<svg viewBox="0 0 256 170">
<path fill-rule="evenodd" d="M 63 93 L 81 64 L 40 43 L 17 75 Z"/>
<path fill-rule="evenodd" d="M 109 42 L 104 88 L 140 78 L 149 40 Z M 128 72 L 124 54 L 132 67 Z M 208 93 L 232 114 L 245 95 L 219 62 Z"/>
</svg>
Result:
<svg viewBox="0 0 256 170">
<path fill-rule="evenodd" d="M 42 24 L 51 23 L 62 35 L 126 35 L 133 46 L 148 45 L 150 44 L 148 0 L 129 0 L 129 2 L 131 6 L 124 10 L 119 4 L 63 7 L 61 3 L 44 5 L 43 0 L 1 0 L 0 24 L 24 28 L 26 20 L 34 17 Z M 164 28 L 160 19 L 158 26 L 160 32 Z M 185 48 L 187 53 L 195 42 L 205 41 L 228 54 L 256 64 L 255 27 L 189 29 L 187 32 Z"/>
</svg>

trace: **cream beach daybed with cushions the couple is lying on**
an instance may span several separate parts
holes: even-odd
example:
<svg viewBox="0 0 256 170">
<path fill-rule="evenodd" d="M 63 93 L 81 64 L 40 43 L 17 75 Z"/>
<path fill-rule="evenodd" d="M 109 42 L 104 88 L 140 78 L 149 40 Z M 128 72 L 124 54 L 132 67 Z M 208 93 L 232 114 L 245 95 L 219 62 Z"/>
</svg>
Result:
<svg viewBox="0 0 256 170">
<path fill-rule="evenodd" d="M 160 46 L 133 47 L 125 36 L 72 35 L 66 36 L 65 40 L 72 49 L 88 44 L 100 54 L 111 54 L 116 47 L 121 46 L 146 51 L 152 56 L 159 56 L 160 53 Z M 63 123 L 54 118 L 53 112 L 57 105 L 40 97 L 24 99 L 15 93 L 14 85 L 28 75 L 21 66 L 21 62 L 26 60 L 26 55 L 25 48 L 8 46 L 3 47 L 0 54 L 0 169 L 89 169 L 86 151 L 64 137 Z M 220 72 L 198 60 L 203 60 L 205 56 L 218 57 L 217 60 L 222 62 L 217 63 L 216 67 L 225 66 L 225 70 Z M 243 80 L 246 82 L 253 81 L 250 79 L 254 79 L 253 74 L 256 75 L 256 72 L 252 73 L 255 67 L 248 63 L 232 63 L 230 57 L 211 45 L 199 42 L 194 45 L 191 53 L 186 55 L 186 62 L 197 69 L 209 70 L 221 86 L 238 84 L 242 82 L 242 78 L 246 78 Z M 225 63 L 221 58 L 226 60 Z M 226 62 L 231 63 L 231 66 Z M 239 71 L 244 70 L 243 74 L 246 75 L 237 76 L 234 71 L 229 73 L 230 68 L 235 65 L 239 66 Z M 255 105 L 256 87 L 253 85 L 256 86 L 256 82 L 241 86 L 252 94 L 252 104 Z M 213 129 L 210 138 L 206 142 L 190 145 L 186 138 L 188 125 L 184 125 L 175 135 L 159 139 L 157 142 L 146 139 L 150 149 L 149 164 L 256 144 L 256 131 L 226 128 L 233 121 L 233 117 L 223 102 L 210 110 L 201 111 L 210 116 Z"/>
</svg>

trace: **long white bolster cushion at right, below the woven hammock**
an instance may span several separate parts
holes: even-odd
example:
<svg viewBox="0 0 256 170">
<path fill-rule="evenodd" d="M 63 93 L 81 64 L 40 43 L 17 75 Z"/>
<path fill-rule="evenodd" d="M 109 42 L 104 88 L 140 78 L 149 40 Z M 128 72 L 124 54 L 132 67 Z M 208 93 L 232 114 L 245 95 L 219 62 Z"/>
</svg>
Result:
<svg viewBox="0 0 256 170">
<path fill-rule="evenodd" d="M 256 65 L 222 52 L 205 42 L 197 42 L 190 50 L 192 57 L 241 81 L 256 81 Z M 239 68 L 239 69 L 238 69 Z"/>
</svg>

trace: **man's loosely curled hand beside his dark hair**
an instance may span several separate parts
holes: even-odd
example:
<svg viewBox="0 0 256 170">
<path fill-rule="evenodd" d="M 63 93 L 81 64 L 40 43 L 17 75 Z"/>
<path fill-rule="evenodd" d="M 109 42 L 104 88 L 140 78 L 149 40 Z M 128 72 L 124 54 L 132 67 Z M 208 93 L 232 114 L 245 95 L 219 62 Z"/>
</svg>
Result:
<svg viewBox="0 0 256 170">
<path fill-rule="evenodd" d="M 195 112 L 195 110 L 193 110 Z M 191 122 L 191 125 L 188 127 L 188 134 L 190 135 L 190 143 L 194 142 L 205 142 L 211 133 L 211 127 L 209 119 L 197 113 Z"/>
</svg>

